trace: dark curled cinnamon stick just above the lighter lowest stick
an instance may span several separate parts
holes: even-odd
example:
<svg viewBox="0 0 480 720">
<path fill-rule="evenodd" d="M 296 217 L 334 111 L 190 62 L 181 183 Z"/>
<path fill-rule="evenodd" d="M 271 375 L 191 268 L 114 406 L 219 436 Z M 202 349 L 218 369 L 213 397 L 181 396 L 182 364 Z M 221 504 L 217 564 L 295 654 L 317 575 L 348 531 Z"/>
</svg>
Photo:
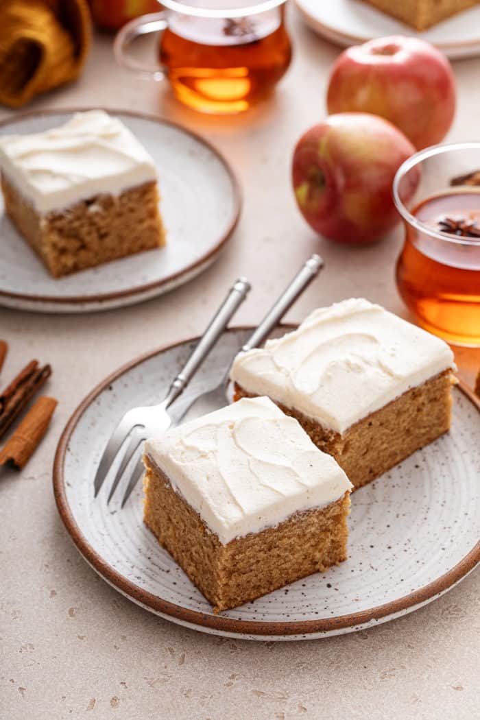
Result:
<svg viewBox="0 0 480 720">
<path fill-rule="evenodd" d="M 0 438 L 51 374 L 50 365 L 39 367 L 38 361 L 32 360 L 1 393 Z"/>
</svg>

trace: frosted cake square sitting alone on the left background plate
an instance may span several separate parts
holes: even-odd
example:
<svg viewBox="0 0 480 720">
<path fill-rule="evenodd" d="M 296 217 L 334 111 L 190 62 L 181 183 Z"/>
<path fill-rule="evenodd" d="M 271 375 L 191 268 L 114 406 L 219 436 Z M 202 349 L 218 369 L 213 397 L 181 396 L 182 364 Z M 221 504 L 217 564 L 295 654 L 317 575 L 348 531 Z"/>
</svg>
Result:
<svg viewBox="0 0 480 720">
<path fill-rule="evenodd" d="M 0 138 L 0 166 L 6 212 L 54 277 L 165 242 L 155 164 L 103 111 Z"/>
</svg>

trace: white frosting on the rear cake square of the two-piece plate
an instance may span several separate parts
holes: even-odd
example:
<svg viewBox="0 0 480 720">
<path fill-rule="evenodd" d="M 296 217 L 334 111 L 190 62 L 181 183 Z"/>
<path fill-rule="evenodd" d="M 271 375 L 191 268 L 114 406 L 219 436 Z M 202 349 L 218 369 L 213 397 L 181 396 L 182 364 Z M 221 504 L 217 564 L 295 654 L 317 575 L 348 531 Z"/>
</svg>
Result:
<svg viewBox="0 0 480 720">
<path fill-rule="evenodd" d="M 343 433 L 450 367 L 453 353 L 443 340 L 352 298 L 314 310 L 293 333 L 239 354 L 231 378 Z"/>
</svg>

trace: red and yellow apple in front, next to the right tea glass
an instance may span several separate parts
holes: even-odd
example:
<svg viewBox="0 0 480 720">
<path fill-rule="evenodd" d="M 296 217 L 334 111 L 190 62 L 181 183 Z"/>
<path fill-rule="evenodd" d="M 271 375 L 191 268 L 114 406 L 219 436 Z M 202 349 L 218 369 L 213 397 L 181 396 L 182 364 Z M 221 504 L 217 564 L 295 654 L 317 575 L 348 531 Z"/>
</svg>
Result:
<svg viewBox="0 0 480 720">
<path fill-rule="evenodd" d="M 412 143 L 388 120 L 362 112 L 330 115 L 302 135 L 294 150 L 292 181 L 305 220 L 339 243 L 378 240 L 399 222 L 391 184 L 413 153 Z M 405 190 L 405 202 L 416 182 Z"/>
</svg>

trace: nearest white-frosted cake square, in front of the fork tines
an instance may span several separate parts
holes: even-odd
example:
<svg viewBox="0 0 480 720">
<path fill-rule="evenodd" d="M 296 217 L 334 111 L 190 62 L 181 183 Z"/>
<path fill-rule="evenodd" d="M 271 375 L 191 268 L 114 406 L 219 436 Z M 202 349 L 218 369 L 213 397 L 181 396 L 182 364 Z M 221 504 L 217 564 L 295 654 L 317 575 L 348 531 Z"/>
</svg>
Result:
<svg viewBox="0 0 480 720">
<path fill-rule="evenodd" d="M 266 397 L 145 446 L 144 520 L 215 612 L 347 558 L 350 482 Z"/>
</svg>

